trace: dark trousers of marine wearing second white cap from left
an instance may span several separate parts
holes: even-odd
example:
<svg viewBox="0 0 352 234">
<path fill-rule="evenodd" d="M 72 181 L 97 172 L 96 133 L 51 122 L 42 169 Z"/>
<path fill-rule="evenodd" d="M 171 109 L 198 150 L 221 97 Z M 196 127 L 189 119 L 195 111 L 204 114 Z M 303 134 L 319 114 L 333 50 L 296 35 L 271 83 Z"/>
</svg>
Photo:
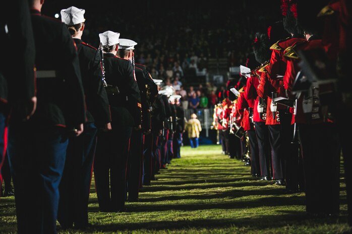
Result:
<svg viewBox="0 0 352 234">
<path fill-rule="evenodd" d="M 98 134 L 94 160 L 94 180 L 99 209 L 118 212 L 125 209 L 126 168 L 132 127 L 112 126 Z"/>
</svg>

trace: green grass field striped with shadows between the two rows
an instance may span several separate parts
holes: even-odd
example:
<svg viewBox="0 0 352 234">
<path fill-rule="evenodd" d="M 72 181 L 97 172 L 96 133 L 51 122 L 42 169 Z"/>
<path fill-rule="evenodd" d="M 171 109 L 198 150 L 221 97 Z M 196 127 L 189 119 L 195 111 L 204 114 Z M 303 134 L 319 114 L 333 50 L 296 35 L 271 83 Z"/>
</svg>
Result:
<svg viewBox="0 0 352 234">
<path fill-rule="evenodd" d="M 99 212 L 94 180 L 85 231 L 59 233 L 348 233 L 345 185 L 341 178 L 338 218 L 309 218 L 303 193 L 286 194 L 284 187 L 250 176 L 243 162 L 222 155 L 218 145 L 181 149 L 145 186 L 140 202 L 127 212 Z M 14 197 L 0 201 L 0 233 L 16 233 Z"/>
</svg>

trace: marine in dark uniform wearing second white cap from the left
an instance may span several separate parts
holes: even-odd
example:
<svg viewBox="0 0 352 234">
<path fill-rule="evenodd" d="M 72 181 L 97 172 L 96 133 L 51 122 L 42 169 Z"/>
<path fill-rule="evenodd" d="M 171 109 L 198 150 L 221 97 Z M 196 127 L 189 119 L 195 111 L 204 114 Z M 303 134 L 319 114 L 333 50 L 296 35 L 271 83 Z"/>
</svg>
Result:
<svg viewBox="0 0 352 234">
<path fill-rule="evenodd" d="M 122 212 L 126 200 L 126 167 L 132 130 L 141 129 L 141 97 L 130 60 L 116 57 L 120 33 L 99 34 L 104 51 L 110 132 L 98 134 L 94 179 L 100 211 Z M 109 188 L 110 187 L 110 188 Z"/>
</svg>

